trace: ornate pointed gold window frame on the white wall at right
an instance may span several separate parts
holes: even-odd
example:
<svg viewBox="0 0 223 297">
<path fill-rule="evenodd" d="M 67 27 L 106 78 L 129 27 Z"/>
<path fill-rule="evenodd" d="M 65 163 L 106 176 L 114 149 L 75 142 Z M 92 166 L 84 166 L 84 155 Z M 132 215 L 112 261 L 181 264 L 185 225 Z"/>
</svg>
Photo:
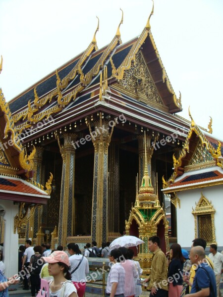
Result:
<svg viewBox="0 0 223 297">
<path fill-rule="evenodd" d="M 201 198 L 199 199 L 198 203 L 196 203 L 195 209 L 192 207 L 192 214 L 194 216 L 194 224 L 195 224 L 195 238 L 198 238 L 198 217 L 200 215 L 211 215 L 211 228 L 212 228 L 212 242 L 207 242 L 207 245 L 216 244 L 216 235 L 215 235 L 215 208 L 211 201 L 209 201 L 202 193 Z"/>
</svg>

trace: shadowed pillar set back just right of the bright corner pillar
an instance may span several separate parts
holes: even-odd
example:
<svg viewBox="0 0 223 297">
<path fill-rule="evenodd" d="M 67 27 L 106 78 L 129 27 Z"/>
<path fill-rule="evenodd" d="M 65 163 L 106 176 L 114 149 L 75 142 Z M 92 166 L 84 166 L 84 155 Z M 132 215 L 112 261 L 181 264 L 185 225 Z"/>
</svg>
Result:
<svg viewBox="0 0 223 297">
<path fill-rule="evenodd" d="M 108 230 L 110 236 L 119 234 L 119 148 L 111 142 L 109 147 Z"/>
</svg>

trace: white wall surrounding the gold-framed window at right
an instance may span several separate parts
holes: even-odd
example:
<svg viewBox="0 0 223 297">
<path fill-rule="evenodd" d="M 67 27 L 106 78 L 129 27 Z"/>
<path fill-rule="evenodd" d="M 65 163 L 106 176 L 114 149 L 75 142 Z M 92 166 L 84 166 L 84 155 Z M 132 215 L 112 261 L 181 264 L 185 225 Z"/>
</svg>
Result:
<svg viewBox="0 0 223 297">
<path fill-rule="evenodd" d="M 195 238 L 194 216 L 192 207 L 195 209 L 196 204 L 201 198 L 201 193 L 205 198 L 212 202 L 215 213 L 216 241 L 218 247 L 223 247 L 223 185 L 206 187 L 203 189 L 187 190 L 177 192 L 180 199 L 180 208 L 177 207 L 177 241 L 181 247 L 191 247 L 192 240 Z"/>
</svg>

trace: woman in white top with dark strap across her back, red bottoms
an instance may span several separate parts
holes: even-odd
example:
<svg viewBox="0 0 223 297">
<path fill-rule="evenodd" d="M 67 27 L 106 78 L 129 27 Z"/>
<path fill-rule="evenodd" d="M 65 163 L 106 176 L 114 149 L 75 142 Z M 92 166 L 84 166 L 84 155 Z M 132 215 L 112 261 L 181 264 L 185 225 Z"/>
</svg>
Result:
<svg viewBox="0 0 223 297">
<path fill-rule="evenodd" d="M 67 245 L 70 254 L 70 273 L 71 281 L 77 289 L 78 297 L 83 297 L 86 288 L 86 275 L 89 273 L 89 264 L 86 257 L 81 254 L 78 245 L 70 243 Z"/>
</svg>

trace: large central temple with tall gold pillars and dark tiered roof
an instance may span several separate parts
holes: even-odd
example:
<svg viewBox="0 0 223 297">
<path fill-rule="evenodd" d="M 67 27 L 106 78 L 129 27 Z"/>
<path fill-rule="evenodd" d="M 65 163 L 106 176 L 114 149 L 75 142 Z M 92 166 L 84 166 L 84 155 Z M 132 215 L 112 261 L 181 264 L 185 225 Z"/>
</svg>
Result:
<svg viewBox="0 0 223 297">
<path fill-rule="evenodd" d="M 170 229 L 162 177 L 171 175 L 172 156 L 178 160 L 191 123 L 177 115 L 181 96 L 174 93 L 154 42 L 152 13 L 140 36 L 124 44 L 122 13 L 111 43 L 102 49 L 98 24 L 87 49 L 9 101 L 11 131 L 32 154 L 33 175 L 24 178 L 45 184 L 52 173 L 51 198 L 19 230 L 20 244 L 28 238 L 36 244 L 42 234 L 52 247 L 69 242 L 82 247 L 92 240 L 101 246 L 123 234 L 126 221 L 128 232 L 136 234 L 146 215 L 157 210 L 163 220 L 156 217 L 154 226 L 161 222 L 163 238 L 176 242 L 178 208 L 170 197 Z M 211 125 L 199 129 L 219 153 Z M 129 220 L 130 211 L 141 213 L 141 220 Z"/>
</svg>

